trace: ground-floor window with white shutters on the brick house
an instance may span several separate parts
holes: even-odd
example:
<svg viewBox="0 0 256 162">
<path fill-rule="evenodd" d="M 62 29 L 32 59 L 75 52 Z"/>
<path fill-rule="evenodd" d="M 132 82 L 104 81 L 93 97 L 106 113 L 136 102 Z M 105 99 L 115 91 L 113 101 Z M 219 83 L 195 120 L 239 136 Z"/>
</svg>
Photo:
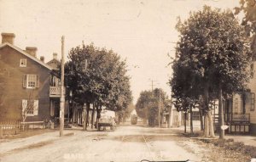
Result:
<svg viewBox="0 0 256 162">
<path fill-rule="evenodd" d="M 22 99 L 22 115 L 38 115 L 38 100 Z"/>
</svg>

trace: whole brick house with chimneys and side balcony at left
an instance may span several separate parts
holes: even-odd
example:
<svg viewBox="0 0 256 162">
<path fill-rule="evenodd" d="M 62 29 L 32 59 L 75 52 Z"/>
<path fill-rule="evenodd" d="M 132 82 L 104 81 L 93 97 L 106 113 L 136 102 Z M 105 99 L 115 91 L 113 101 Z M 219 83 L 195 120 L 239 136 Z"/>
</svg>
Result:
<svg viewBox="0 0 256 162">
<path fill-rule="evenodd" d="M 2 33 L 0 44 L 0 120 L 21 120 L 29 100 L 33 109 L 26 121 L 53 120 L 59 111 L 60 79 L 37 47 L 22 50 L 14 44 L 15 34 Z"/>
</svg>

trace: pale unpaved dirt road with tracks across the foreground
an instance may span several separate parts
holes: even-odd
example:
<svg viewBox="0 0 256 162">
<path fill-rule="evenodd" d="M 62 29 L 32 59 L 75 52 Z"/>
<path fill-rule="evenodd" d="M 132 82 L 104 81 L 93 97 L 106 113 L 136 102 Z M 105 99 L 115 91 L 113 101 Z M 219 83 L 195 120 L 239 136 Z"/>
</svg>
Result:
<svg viewBox="0 0 256 162">
<path fill-rule="evenodd" d="M 211 149 L 181 137 L 177 131 L 119 126 L 115 131 L 66 131 L 73 136 L 44 133 L 0 143 L 1 162 L 51 161 L 215 161 Z M 221 158 L 221 157 L 217 157 Z M 223 157 L 223 159 L 227 159 Z M 216 160 L 218 161 L 218 160 Z M 228 159 L 225 161 L 229 161 Z M 230 159 L 231 161 L 231 159 Z"/>
</svg>

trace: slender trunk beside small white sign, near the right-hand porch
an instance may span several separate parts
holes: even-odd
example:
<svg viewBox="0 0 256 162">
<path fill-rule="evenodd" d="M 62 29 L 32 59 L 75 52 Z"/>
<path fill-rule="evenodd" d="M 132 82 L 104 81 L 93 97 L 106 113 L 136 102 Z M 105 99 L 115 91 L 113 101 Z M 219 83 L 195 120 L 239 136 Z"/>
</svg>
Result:
<svg viewBox="0 0 256 162">
<path fill-rule="evenodd" d="M 222 103 L 222 88 L 219 87 L 219 94 L 218 94 L 218 123 L 219 123 L 219 139 L 224 139 L 224 130 L 221 129 L 221 126 L 224 126 L 224 110 L 223 110 L 223 103 Z"/>
</svg>

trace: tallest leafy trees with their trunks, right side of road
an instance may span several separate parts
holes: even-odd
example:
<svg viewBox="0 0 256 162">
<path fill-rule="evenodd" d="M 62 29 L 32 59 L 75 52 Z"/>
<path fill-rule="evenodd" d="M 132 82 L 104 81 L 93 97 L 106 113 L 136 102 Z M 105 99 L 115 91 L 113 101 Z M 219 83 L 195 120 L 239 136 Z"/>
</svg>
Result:
<svg viewBox="0 0 256 162">
<path fill-rule="evenodd" d="M 180 35 L 172 59 L 173 103 L 184 112 L 198 106 L 205 116 L 204 136 L 214 137 L 209 104 L 218 99 L 219 125 L 223 126 L 224 99 L 247 90 L 247 67 L 252 61 L 250 33 L 230 10 L 208 6 L 190 13 L 187 20 L 179 19 L 176 27 Z M 220 138 L 224 138 L 224 130 L 220 130 Z"/>
</svg>

